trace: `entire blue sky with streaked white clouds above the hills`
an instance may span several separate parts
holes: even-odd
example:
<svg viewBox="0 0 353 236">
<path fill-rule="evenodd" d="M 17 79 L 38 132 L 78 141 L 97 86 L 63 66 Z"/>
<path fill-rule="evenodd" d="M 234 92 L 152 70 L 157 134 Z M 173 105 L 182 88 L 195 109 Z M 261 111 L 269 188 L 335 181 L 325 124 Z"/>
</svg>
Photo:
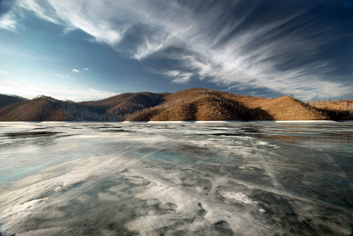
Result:
<svg viewBox="0 0 353 236">
<path fill-rule="evenodd" d="M 0 93 L 353 97 L 353 0 L 0 0 Z"/>
</svg>

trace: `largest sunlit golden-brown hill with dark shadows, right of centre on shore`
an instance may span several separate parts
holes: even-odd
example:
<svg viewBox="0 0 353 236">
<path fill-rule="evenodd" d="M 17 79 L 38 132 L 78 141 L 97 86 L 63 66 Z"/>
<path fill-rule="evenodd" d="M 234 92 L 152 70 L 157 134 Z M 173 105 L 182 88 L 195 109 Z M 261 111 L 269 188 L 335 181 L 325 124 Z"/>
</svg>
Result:
<svg viewBox="0 0 353 236">
<path fill-rule="evenodd" d="M 127 115 L 131 121 L 174 120 L 326 120 L 328 116 L 297 99 L 264 98 L 193 88 L 165 97 L 165 102 Z"/>
</svg>

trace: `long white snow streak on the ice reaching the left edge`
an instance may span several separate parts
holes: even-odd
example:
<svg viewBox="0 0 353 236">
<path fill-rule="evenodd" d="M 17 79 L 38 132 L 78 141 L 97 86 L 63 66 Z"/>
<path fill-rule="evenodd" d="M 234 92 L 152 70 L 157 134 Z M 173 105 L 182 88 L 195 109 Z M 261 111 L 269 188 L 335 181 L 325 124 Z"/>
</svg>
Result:
<svg viewBox="0 0 353 236">
<path fill-rule="evenodd" d="M 76 159 L 55 166 L 55 169 L 68 169 L 69 171 L 66 174 L 39 181 L 24 188 L 0 193 L 2 201 L 0 204 L 0 221 L 6 222 L 1 226 L 1 230 L 8 230 L 19 225 L 24 218 L 49 206 L 48 198 L 37 199 L 43 194 L 59 190 L 60 187 L 58 188 L 58 186 L 68 187 L 82 183 L 92 176 L 101 175 L 117 166 L 119 166 L 119 161 L 109 157 L 105 159 L 96 157 Z M 54 167 L 48 167 L 47 171 L 52 168 Z M 26 180 L 26 178 L 23 179 Z M 21 186 L 21 179 L 18 182 Z"/>
</svg>

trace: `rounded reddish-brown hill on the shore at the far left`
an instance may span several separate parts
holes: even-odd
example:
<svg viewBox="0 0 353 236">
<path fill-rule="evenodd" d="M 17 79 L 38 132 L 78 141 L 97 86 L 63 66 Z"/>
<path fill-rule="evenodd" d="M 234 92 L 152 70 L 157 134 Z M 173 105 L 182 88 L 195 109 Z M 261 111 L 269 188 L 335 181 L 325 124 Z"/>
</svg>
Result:
<svg viewBox="0 0 353 236">
<path fill-rule="evenodd" d="M 36 98 L 0 108 L 0 121 L 67 121 L 67 113 L 55 102 Z"/>
</svg>

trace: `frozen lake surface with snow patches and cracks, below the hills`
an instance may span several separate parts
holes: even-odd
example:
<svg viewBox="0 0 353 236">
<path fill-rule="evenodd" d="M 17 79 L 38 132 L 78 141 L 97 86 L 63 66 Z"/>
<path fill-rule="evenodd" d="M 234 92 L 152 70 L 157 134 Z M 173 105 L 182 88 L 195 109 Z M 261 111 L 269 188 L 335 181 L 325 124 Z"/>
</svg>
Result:
<svg viewBox="0 0 353 236">
<path fill-rule="evenodd" d="M 0 122 L 0 235 L 351 235 L 353 122 Z"/>
</svg>

